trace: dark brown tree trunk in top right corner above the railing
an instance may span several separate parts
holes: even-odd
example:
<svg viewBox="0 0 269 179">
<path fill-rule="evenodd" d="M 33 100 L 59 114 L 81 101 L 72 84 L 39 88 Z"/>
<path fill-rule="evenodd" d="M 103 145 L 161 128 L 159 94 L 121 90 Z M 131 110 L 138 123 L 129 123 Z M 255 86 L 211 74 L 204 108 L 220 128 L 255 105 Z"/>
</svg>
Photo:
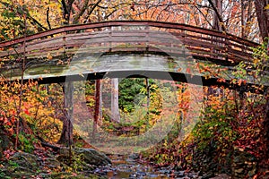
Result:
<svg viewBox="0 0 269 179">
<path fill-rule="evenodd" d="M 268 0 L 255 0 L 256 18 L 263 40 L 269 36 L 269 10 L 265 9 L 268 4 Z"/>
</svg>

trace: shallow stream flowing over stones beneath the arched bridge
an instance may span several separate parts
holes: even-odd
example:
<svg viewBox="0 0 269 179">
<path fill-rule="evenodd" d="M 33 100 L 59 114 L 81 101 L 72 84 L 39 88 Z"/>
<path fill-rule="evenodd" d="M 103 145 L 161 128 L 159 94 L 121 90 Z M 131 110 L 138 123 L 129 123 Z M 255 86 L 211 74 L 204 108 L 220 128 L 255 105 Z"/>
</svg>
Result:
<svg viewBox="0 0 269 179">
<path fill-rule="evenodd" d="M 112 160 L 112 165 L 101 166 L 94 170 L 97 175 L 107 176 L 109 179 L 122 179 L 122 178 L 198 178 L 198 174 L 183 171 L 174 171 L 171 167 L 153 167 L 138 162 L 138 157 L 133 154 L 131 156 L 109 156 Z"/>
</svg>

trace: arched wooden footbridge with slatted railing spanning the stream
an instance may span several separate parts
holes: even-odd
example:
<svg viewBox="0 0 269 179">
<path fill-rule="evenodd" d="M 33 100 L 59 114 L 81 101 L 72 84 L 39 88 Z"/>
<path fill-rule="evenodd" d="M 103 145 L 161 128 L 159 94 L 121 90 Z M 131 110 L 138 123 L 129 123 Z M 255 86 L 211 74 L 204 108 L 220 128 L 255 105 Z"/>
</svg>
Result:
<svg viewBox="0 0 269 179">
<path fill-rule="evenodd" d="M 42 83 L 145 76 L 228 87 L 234 66 L 241 61 L 252 63 L 251 47 L 256 46 L 186 24 L 103 21 L 0 43 L 0 74 L 13 81 L 22 79 L 23 71 L 24 80 L 42 78 Z M 201 63 L 227 70 L 206 76 L 199 71 Z"/>
</svg>

